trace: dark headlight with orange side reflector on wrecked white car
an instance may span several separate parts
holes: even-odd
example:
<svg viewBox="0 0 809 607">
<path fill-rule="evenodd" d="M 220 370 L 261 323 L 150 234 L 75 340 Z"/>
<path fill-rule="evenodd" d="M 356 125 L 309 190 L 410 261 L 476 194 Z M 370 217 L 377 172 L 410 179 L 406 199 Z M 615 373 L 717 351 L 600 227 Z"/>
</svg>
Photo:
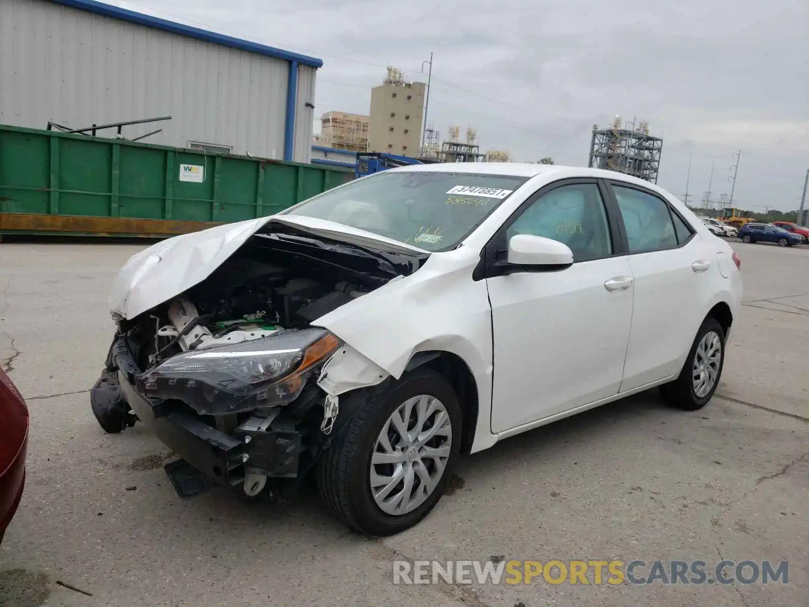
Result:
<svg viewBox="0 0 809 607">
<path fill-rule="evenodd" d="M 223 415 L 294 401 L 341 342 L 325 329 L 269 337 L 172 356 L 138 379 L 150 398 L 176 398 L 199 414 Z"/>
</svg>

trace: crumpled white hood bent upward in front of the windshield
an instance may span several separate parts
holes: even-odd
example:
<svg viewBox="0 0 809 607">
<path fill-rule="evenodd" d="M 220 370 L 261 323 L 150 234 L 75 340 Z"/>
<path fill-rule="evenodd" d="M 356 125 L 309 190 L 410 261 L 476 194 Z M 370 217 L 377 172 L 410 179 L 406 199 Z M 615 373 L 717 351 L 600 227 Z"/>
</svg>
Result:
<svg viewBox="0 0 809 607">
<path fill-rule="evenodd" d="M 250 236 L 271 221 L 360 246 L 383 245 L 386 250 L 398 253 L 426 253 L 421 248 L 323 219 L 269 215 L 174 236 L 135 253 L 112 282 L 108 299 L 110 311 L 124 318 L 134 318 L 188 291 L 208 278 Z"/>
</svg>

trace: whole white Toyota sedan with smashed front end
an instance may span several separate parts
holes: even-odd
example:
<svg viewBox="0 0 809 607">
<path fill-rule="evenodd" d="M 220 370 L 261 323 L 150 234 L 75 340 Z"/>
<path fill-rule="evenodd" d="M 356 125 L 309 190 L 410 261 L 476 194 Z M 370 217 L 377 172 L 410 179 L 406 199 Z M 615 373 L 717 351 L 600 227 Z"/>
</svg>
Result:
<svg viewBox="0 0 809 607">
<path fill-rule="evenodd" d="M 388 535 L 434 507 L 461 452 L 657 385 L 705 405 L 739 264 L 616 172 L 392 169 L 134 255 L 92 410 L 172 448 L 180 495 L 283 497 L 313 470 L 351 528 Z"/>
</svg>

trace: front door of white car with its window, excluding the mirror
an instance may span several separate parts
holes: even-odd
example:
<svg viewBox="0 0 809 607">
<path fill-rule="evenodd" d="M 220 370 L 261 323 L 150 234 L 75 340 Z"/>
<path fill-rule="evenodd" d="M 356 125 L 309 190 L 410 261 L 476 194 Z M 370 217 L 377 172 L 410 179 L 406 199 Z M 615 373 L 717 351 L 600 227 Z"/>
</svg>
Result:
<svg viewBox="0 0 809 607">
<path fill-rule="evenodd" d="M 492 431 L 502 432 L 618 392 L 632 320 L 633 278 L 595 180 L 565 180 L 520 207 L 489 247 L 515 234 L 560 240 L 564 270 L 487 278 L 492 304 Z"/>
</svg>

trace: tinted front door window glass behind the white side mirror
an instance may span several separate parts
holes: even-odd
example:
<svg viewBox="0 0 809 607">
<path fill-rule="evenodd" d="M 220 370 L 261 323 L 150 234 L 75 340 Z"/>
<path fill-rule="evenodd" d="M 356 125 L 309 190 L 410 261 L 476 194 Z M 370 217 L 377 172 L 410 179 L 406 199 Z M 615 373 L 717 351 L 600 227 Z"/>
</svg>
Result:
<svg viewBox="0 0 809 607">
<path fill-rule="evenodd" d="M 595 184 L 562 185 L 542 194 L 506 229 L 508 240 L 517 234 L 564 243 L 574 261 L 612 255 L 607 213 Z"/>
</svg>

